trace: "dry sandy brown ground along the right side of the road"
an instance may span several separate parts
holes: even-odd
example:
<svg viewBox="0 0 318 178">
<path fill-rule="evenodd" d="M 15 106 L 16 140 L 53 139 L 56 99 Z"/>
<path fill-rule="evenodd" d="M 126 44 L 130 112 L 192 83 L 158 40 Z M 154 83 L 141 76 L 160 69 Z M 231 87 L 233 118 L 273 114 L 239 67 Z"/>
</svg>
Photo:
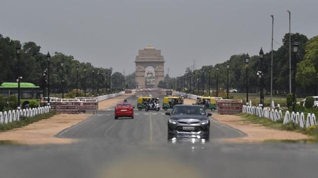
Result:
<svg viewBox="0 0 318 178">
<path fill-rule="evenodd" d="M 184 104 L 192 104 L 195 100 L 185 99 Z M 220 123 L 238 129 L 247 136 L 241 138 L 223 139 L 226 142 L 263 142 L 266 140 L 301 140 L 309 139 L 307 135 L 284 130 L 270 129 L 259 124 L 252 124 L 242 121 L 242 118 L 235 115 L 214 114 L 213 117 Z"/>
</svg>

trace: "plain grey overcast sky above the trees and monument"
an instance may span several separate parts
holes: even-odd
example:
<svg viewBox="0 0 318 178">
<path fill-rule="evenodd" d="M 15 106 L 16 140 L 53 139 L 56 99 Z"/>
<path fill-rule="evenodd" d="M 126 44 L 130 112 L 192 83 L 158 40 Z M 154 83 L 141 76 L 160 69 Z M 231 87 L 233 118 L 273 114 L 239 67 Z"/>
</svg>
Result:
<svg viewBox="0 0 318 178">
<path fill-rule="evenodd" d="M 0 0 L 0 33 L 33 41 L 96 67 L 131 73 L 138 49 L 162 50 L 165 72 L 224 62 L 239 53 L 274 49 L 291 31 L 318 35 L 317 0 Z"/>
</svg>

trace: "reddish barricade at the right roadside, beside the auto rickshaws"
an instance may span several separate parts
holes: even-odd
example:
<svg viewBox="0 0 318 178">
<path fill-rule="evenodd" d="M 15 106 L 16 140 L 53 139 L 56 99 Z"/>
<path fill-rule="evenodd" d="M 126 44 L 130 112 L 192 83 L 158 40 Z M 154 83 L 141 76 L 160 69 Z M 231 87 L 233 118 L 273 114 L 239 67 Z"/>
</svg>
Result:
<svg viewBox="0 0 318 178">
<path fill-rule="evenodd" d="M 219 114 L 235 114 L 242 112 L 242 100 L 218 100 L 218 113 Z"/>
</svg>

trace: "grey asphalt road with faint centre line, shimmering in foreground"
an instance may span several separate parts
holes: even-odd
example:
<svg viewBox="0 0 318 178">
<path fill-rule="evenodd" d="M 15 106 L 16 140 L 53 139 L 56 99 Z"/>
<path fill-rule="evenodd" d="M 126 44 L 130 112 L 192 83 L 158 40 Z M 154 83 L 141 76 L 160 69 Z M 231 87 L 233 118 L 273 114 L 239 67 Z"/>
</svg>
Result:
<svg viewBox="0 0 318 178">
<path fill-rule="evenodd" d="M 162 98 L 162 96 L 160 96 Z M 136 106 L 136 97 L 128 99 Z M 161 100 L 162 101 L 162 100 Z M 244 133 L 211 118 L 210 140 L 167 139 L 165 111 L 100 111 L 57 136 L 70 145 L 0 145 L 0 177 L 316 177 L 318 145 L 223 143 Z"/>
</svg>

